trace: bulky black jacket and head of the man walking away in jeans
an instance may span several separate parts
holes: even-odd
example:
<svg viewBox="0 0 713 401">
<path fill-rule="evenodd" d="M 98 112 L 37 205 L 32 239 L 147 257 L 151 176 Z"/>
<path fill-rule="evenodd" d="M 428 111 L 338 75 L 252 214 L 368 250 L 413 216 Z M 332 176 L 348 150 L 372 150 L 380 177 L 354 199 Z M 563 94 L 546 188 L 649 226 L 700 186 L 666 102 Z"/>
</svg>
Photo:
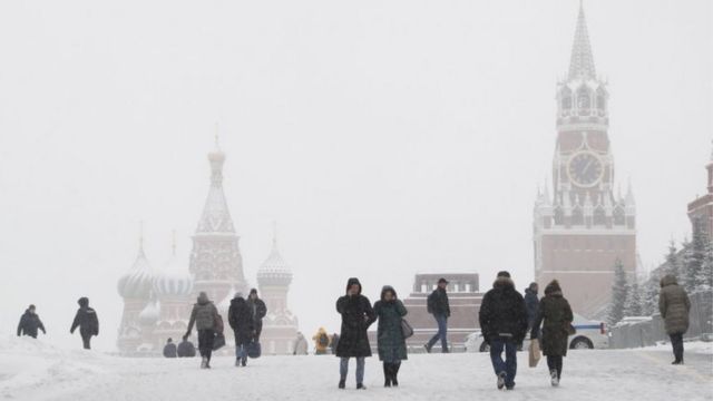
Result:
<svg viewBox="0 0 713 401">
<path fill-rule="evenodd" d="M 482 297 L 480 329 L 486 341 L 505 338 L 520 343 L 527 333 L 525 300 L 508 277 L 498 277 Z"/>
</svg>

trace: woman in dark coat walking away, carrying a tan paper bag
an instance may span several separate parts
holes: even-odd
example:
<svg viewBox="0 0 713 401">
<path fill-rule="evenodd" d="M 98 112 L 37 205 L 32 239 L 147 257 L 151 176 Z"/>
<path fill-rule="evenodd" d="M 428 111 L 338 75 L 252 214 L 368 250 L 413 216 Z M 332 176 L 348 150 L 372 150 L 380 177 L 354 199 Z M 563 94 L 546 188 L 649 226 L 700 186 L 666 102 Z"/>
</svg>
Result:
<svg viewBox="0 0 713 401">
<path fill-rule="evenodd" d="M 547 356 L 553 385 L 559 385 L 559 379 L 561 379 L 563 356 L 567 356 L 567 339 L 573 320 L 569 302 L 563 296 L 559 282 L 553 280 L 545 287 L 545 297 L 539 302 L 530 335 L 533 340 L 538 338 L 540 340 L 543 353 Z M 540 324 L 543 325 L 541 335 Z"/>
</svg>

